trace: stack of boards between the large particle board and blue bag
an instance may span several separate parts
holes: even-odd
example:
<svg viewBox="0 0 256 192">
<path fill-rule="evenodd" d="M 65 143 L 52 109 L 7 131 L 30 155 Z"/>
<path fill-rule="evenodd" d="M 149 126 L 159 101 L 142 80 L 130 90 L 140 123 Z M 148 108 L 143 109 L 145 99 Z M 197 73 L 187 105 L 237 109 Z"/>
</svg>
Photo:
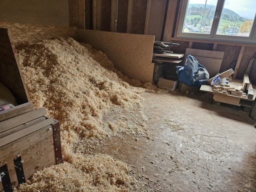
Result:
<svg viewBox="0 0 256 192">
<path fill-rule="evenodd" d="M 184 54 L 173 53 L 170 50 L 167 50 L 170 46 L 177 46 L 178 43 L 173 42 L 162 42 L 162 41 L 154 41 L 154 49 L 153 49 L 153 59 L 152 62 L 160 63 L 160 62 L 171 62 L 171 63 L 179 63 L 183 59 L 179 59 L 184 56 Z"/>
</svg>

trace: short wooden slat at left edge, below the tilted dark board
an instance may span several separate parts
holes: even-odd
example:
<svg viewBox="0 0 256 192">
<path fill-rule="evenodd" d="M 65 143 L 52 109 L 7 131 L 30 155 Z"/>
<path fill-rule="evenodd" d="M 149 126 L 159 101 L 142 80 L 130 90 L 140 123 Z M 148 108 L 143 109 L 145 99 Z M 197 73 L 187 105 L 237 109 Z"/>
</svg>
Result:
<svg viewBox="0 0 256 192">
<path fill-rule="evenodd" d="M 0 121 L 12 118 L 14 116 L 18 116 L 20 114 L 24 114 L 33 110 L 33 103 L 26 102 L 24 104 L 17 105 L 15 107 L 0 111 Z"/>
</svg>

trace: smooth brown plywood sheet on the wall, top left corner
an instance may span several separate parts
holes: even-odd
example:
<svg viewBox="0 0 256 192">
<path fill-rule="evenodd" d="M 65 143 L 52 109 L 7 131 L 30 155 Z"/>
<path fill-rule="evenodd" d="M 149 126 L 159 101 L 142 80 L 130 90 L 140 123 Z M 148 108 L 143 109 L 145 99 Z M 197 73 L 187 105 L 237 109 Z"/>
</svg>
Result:
<svg viewBox="0 0 256 192">
<path fill-rule="evenodd" d="M 0 21 L 69 26 L 68 0 L 0 0 Z"/>
</svg>

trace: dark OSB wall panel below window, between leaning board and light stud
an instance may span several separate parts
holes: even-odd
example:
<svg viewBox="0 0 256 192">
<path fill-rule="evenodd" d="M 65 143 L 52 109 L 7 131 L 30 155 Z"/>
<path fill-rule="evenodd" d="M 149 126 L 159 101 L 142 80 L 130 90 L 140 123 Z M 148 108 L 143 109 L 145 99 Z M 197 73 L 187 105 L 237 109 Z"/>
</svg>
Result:
<svg viewBox="0 0 256 192">
<path fill-rule="evenodd" d="M 231 63 L 236 62 L 239 56 L 241 46 L 234 46 L 228 44 L 218 44 L 216 51 L 224 52 L 222 63 L 219 69 L 219 72 L 224 72 L 229 68 L 232 68 Z"/>
</svg>

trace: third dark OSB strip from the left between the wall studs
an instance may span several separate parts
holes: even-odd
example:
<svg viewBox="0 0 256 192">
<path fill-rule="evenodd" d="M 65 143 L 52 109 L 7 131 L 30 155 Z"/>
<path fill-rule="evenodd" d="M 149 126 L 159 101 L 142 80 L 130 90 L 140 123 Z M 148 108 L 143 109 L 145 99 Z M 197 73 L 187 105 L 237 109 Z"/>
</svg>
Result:
<svg viewBox="0 0 256 192">
<path fill-rule="evenodd" d="M 101 30 L 110 31 L 111 1 L 101 0 Z"/>
</svg>

